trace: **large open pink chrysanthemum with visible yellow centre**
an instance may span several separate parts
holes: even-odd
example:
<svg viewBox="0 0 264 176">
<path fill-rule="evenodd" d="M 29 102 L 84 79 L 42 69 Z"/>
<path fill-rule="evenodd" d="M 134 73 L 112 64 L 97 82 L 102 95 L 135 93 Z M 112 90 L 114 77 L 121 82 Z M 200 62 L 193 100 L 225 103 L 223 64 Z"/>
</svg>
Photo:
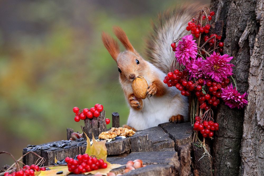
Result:
<svg viewBox="0 0 264 176">
<path fill-rule="evenodd" d="M 224 54 L 216 55 L 215 52 L 210 57 L 206 57 L 203 63 L 203 71 L 205 76 L 212 78 L 216 82 L 221 82 L 223 79 L 227 79 L 228 76 L 232 76 L 234 66 L 232 63 L 229 63 L 233 57 Z"/>
</svg>

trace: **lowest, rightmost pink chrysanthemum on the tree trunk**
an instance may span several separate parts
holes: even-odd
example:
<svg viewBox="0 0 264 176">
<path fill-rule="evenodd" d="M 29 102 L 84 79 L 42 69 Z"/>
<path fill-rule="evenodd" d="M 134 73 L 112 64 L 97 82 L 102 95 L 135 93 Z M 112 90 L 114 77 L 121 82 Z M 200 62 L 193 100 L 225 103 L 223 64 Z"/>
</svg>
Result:
<svg viewBox="0 0 264 176">
<path fill-rule="evenodd" d="M 241 95 L 237 91 L 237 87 L 233 88 L 232 83 L 227 86 L 227 89 L 221 88 L 221 90 L 221 98 L 230 108 L 237 107 L 238 109 L 241 109 L 248 104 L 248 101 L 245 99 L 247 97 L 247 92 Z"/>
</svg>

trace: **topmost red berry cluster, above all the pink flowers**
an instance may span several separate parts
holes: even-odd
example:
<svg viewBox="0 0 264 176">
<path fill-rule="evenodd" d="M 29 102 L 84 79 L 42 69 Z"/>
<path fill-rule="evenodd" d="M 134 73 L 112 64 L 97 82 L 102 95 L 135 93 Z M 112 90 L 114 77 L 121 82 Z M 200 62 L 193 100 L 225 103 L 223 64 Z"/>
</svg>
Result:
<svg viewBox="0 0 264 176">
<path fill-rule="evenodd" d="M 207 16 L 207 19 L 206 19 L 205 15 L 202 15 L 202 21 L 206 19 L 207 20 L 206 23 L 207 23 L 208 21 L 212 20 L 212 16 L 214 16 L 214 15 L 215 15 L 214 11 L 210 11 L 210 15 Z M 193 18 L 192 21 L 188 22 L 188 26 L 186 27 L 186 30 L 191 31 L 191 33 L 193 35 L 195 35 L 196 38 L 199 38 L 199 36 L 202 33 L 206 33 L 206 34 L 209 33 L 210 28 L 211 28 L 211 26 L 209 24 L 202 26 L 202 23 L 200 21 L 200 17 L 197 16 L 197 17 Z"/>
</svg>

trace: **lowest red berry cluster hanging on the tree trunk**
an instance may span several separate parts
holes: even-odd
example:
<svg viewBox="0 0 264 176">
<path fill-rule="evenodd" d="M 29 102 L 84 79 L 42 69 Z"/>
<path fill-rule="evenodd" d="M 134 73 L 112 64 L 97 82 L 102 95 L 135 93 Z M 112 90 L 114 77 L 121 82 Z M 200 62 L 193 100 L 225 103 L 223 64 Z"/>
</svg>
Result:
<svg viewBox="0 0 264 176">
<path fill-rule="evenodd" d="M 200 131 L 202 136 L 204 138 L 211 138 L 214 136 L 214 131 L 219 130 L 219 124 L 214 123 L 212 120 L 210 121 L 202 121 L 202 119 L 199 116 L 195 117 L 195 123 L 194 123 L 194 130 Z"/>
</svg>

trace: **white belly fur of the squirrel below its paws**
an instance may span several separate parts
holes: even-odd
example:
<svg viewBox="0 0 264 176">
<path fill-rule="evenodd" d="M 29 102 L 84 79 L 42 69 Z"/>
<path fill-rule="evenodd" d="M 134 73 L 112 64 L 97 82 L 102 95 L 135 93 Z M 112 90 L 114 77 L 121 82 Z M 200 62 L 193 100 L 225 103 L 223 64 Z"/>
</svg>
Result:
<svg viewBox="0 0 264 176">
<path fill-rule="evenodd" d="M 161 74 L 161 73 L 160 73 Z M 160 80 L 163 83 L 165 74 L 162 73 Z M 144 76 L 143 76 L 144 77 Z M 148 84 L 148 77 L 144 77 Z M 164 84 L 164 83 L 163 83 Z M 143 108 L 134 110 L 130 108 L 127 125 L 136 130 L 143 130 L 158 124 L 169 122 L 169 118 L 175 115 L 183 115 L 184 121 L 188 120 L 188 98 L 181 95 L 176 87 L 167 87 L 167 93 L 162 97 L 153 95 L 143 100 Z"/>
</svg>

